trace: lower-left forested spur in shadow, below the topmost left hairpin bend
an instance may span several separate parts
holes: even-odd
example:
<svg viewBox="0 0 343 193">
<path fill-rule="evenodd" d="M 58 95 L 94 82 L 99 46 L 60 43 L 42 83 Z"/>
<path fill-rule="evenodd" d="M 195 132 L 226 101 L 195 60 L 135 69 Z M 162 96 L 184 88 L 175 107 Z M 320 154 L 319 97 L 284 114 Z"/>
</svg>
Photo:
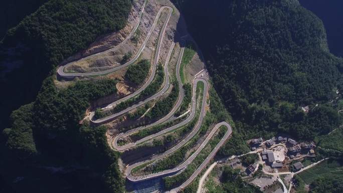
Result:
<svg viewBox="0 0 343 193">
<path fill-rule="evenodd" d="M 109 79 L 80 81 L 67 89 L 58 90 L 53 78 L 47 78 L 36 101 L 14 111 L 12 127 L 3 132 L 5 144 L 1 146 L 3 159 L 0 165 L 1 174 L 10 180 L 7 183 L 18 192 L 26 188 L 35 192 L 53 192 L 51 187 L 61 191 L 67 188 L 73 192 L 81 189 L 92 192 L 97 188 L 101 188 L 101 192 L 122 190 L 123 181 L 117 167 L 118 154 L 107 144 L 107 128 L 90 128 L 87 123 L 80 124 L 90 101 L 117 92 L 115 83 Z M 54 179 L 56 175 L 42 171 L 44 169 L 31 172 L 42 165 L 72 168 L 59 175 L 76 179 L 71 182 L 66 182 L 63 177 Z M 73 165 L 79 165 L 80 170 L 74 170 Z M 81 180 L 78 178 L 82 173 L 85 174 L 82 180 L 95 182 L 86 186 L 79 184 L 82 187 L 78 187 L 78 180 Z M 20 183 L 13 182 L 19 175 L 26 177 Z M 40 183 L 47 186 L 40 186 Z M 68 184 L 73 184 L 75 189 L 68 187 Z"/>
</svg>

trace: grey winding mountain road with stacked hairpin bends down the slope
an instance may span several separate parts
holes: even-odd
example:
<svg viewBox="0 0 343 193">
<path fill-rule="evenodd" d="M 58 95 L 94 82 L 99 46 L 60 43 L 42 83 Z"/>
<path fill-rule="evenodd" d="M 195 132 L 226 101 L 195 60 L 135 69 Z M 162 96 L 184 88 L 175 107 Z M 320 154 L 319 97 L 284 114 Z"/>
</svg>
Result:
<svg viewBox="0 0 343 193">
<path fill-rule="evenodd" d="M 142 5 L 142 8 L 141 8 L 141 11 L 139 13 L 139 18 L 138 18 L 138 22 L 136 23 L 136 25 L 134 26 L 134 28 L 132 29 L 132 31 L 130 32 L 130 34 L 125 38 L 125 40 L 120 43 L 119 45 L 122 45 L 124 43 L 126 43 L 132 36 L 133 34 L 135 33 L 135 31 L 137 30 L 138 26 L 139 26 L 139 23 L 141 21 L 141 17 L 142 17 L 142 14 L 144 12 L 144 7 L 145 7 L 145 4 L 147 3 L 147 1 L 144 1 L 143 5 Z M 72 63 L 69 63 L 69 64 L 66 64 L 65 66 L 60 66 L 57 73 L 59 76 L 61 77 L 64 77 L 64 78 L 74 78 L 74 77 L 82 77 L 82 76 L 94 76 L 94 75 L 105 75 L 105 74 L 108 74 L 108 73 L 111 73 L 111 72 L 115 72 L 117 70 L 120 70 L 124 67 L 127 67 L 131 64 L 133 64 L 134 62 L 136 62 L 139 58 L 139 56 L 141 55 L 142 51 L 144 50 L 147 42 L 149 41 L 150 37 L 151 37 L 151 34 L 154 32 L 156 26 L 157 26 L 157 23 L 158 23 L 158 20 L 160 18 L 160 15 L 161 13 L 163 12 L 163 10 L 167 10 L 168 11 L 168 14 L 167 14 L 167 17 L 164 21 L 164 24 L 160 30 L 160 33 L 159 33 L 159 38 L 158 38 L 158 42 L 157 42 L 157 48 L 156 48 L 156 51 L 155 51 L 155 56 L 154 56 L 154 60 L 153 60 L 153 64 L 152 64 L 152 70 L 151 70 L 151 74 L 147 80 L 146 83 L 144 83 L 144 85 L 139 88 L 137 91 L 119 99 L 119 100 L 116 100 L 110 104 L 108 104 L 106 107 L 104 107 L 103 109 L 109 109 L 109 108 L 113 108 L 115 107 L 115 105 L 127 100 L 127 99 L 130 99 L 132 97 L 135 97 L 137 96 L 139 93 L 141 93 L 144 89 L 146 89 L 148 87 L 148 85 L 150 85 L 150 83 L 152 82 L 154 76 L 155 76 L 155 72 L 156 72 L 156 67 L 157 67 L 157 63 L 158 63 L 158 60 L 159 60 L 159 54 L 160 54 L 160 49 L 161 49 L 161 45 L 162 45 L 162 42 L 163 42 L 163 37 L 164 37 L 164 34 L 165 34 L 165 30 L 166 30 L 166 27 L 167 27 L 167 24 L 169 22 L 169 19 L 171 17 L 171 14 L 173 13 L 173 8 L 171 7 L 168 7 L 168 6 L 163 6 L 159 9 L 158 13 L 156 14 L 155 16 L 155 19 L 152 23 L 152 26 L 149 30 L 149 32 L 147 33 L 142 45 L 139 47 L 138 51 L 136 52 L 135 56 L 128 62 L 126 62 L 125 64 L 121 65 L 121 66 L 117 66 L 117 67 L 114 67 L 114 68 L 111 68 L 111 69 L 108 69 L 108 70 L 104 70 L 104 71 L 98 71 L 98 72 L 87 72 L 87 73 L 74 73 L 74 72 L 64 72 L 64 69 L 72 64 L 75 64 L 76 62 L 79 62 L 79 61 L 83 61 L 83 60 L 87 60 L 87 59 L 90 59 L 94 56 L 98 56 L 98 55 L 101 55 L 101 54 L 104 54 L 106 52 L 110 52 L 110 51 L 113 51 L 115 49 L 118 49 L 118 46 L 115 46 L 107 51 L 104 51 L 104 52 L 100 52 L 100 53 L 97 53 L 97 54 L 93 54 L 91 56 L 88 56 L 88 57 L 85 57 L 83 59 L 80 59 L 76 62 L 72 62 Z M 108 117 L 104 117 L 104 118 L 101 118 L 101 119 L 94 119 L 94 112 L 91 112 L 90 114 L 90 120 L 95 123 L 95 124 L 104 124 L 106 122 L 109 122 L 109 121 L 112 121 L 114 120 L 115 118 L 117 118 L 118 116 L 120 115 L 123 115 L 127 112 L 129 112 L 130 110 L 133 110 L 151 100 L 154 100 L 156 99 L 157 97 L 163 95 L 169 88 L 170 86 L 170 80 L 169 80 L 169 74 L 168 74 L 168 64 L 169 64 L 169 59 L 171 57 L 171 54 L 173 53 L 173 50 L 175 48 L 175 45 L 176 43 L 172 43 L 170 48 L 169 48 L 169 51 L 168 51 L 168 54 L 167 54 L 167 57 L 166 57 L 166 60 L 165 60 L 165 63 L 164 63 L 164 74 L 165 74 L 165 83 L 164 83 L 164 86 L 163 88 L 158 91 L 156 94 L 154 94 L 153 96 L 150 96 L 140 102 L 138 102 L 137 104 L 134 104 L 120 112 L 117 112 L 117 113 L 114 113 Z M 203 148 L 209 143 L 209 141 L 211 140 L 211 138 L 214 136 L 214 134 L 217 132 L 217 130 L 221 127 L 221 126 L 225 126 L 227 127 L 227 132 L 225 133 L 225 135 L 222 137 L 222 139 L 219 141 L 219 143 L 215 146 L 215 148 L 211 151 L 211 153 L 206 157 L 206 159 L 202 162 L 202 164 L 196 169 L 196 171 L 192 174 L 192 176 L 190 178 L 188 178 L 183 184 L 181 184 L 179 187 L 176 187 L 172 190 L 170 190 L 170 192 L 177 192 L 183 188 L 185 188 L 188 184 L 190 184 L 196 177 L 197 175 L 206 167 L 206 165 L 211 161 L 211 159 L 215 156 L 216 152 L 219 150 L 219 148 L 225 143 L 225 141 L 230 137 L 231 133 L 232 133 L 232 128 L 230 126 L 229 123 L 227 122 L 220 122 L 218 123 L 211 131 L 210 133 L 207 135 L 207 137 L 205 138 L 205 140 L 201 143 L 201 145 L 199 146 L 199 148 L 192 154 L 190 155 L 184 162 L 182 162 L 181 164 L 179 164 L 178 166 L 176 166 L 175 168 L 171 168 L 171 169 L 167 169 L 167 170 L 164 170 L 164 171 L 160 171 L 160 172 L 156 172 L 156 173 L 151 173 L 151 174 L 147 174 L 147 175 L 142 175 L 142 176 L 133 176 L 131 175 L 131 171 L 133 168 L 137 167 L 137 166 L 140 166 L 142 164 L 145 164 L 145 163 L 148 163 L 148 162 L 151 162 L 151 161 L 154 161 L 154 160 L 157 160 L 157 159 L 160 159 L 160 158 L 164 158 L 168 155 L 170 155 L 171 153 L 175 152 L 176 150 L 180 149 L 183 145 L 185 145 L 187 142 L 189 142 L 197 133 L 198 131 L 200 130 L 201 128 L 201 125 L 203 123 L 203 120 L 204 120 L 204 117 L 205 117 L 205 114 L 206 114 L 206 97 L 207 97 L 207 93 L 208 93 L 208 77 L 203 77 L 203 75 L 200 75 L 200 73 L 198 73 L 195 78 L 193 79 L 193 91 L 192 91 L 192 107 L 191 107 L 191 112 L 190 112 L 190 115 L 187 117 L 187 119 L 185 119 L 184 121 L 176 124 L 176 125 L 173 125 L 173 126 L 170 126 L 164 130 L 161 130 L 157 133 L 154 133 L 154 134 L 151 134 L 149 136 L 146 136 L 142 139 L 139 139 L 135 142 L 132 142 L 132 143 L 128 143 L 128 144 L 125 144 L 125 145 L 122 145 L 122 146 L 119 146 L 118 145 L 118 139 L 122 138 L 122 137 L 127 137 L 135 132 L 138 132 L 142 129 L 147 129 L 149 127 L 152 127 L 152 126 L 155 126 L 155 125 L 158 125 L 158 124 L 161 124 L 165 121 L 167 121 L 171 116 L 173 116 L 175 114 L 175 112 L 180 108 L 182 102 L 183 102 L 183 99 L 184 99 L 184 90 L 183 90 L 183 84 L 182 84 L 182 81 L 181 81 L 181 77 L 180 77 L 180 67 L 181 67 L 181 62 L 182 62 L 182 59 L 183 59 L 183 54 L 184 54 L 184 50 L 185 48 L 181 48 L 180 50 L 180 54 L 179 54 L 179 58 L 178 58 L 178 62 L 177 62 L 177 68 L 176 68 L 176 74 L 177 74 L 177 80 L 178 80 L 178 83 L 179 83 L 179 90 L 180 90 L 180 93 L 179 93 L 179 97 L 178 97 L 178 100 L 175 104 L 175 106 L 173 107 L 173 109 L 166 115 L 164 116 L 163 118 L 157 120 L 156 122 L 154 123 L 151 123 L 147 126 L 142 126 L 142 127 L 137 127 L 137 128 L 134 128 L 134 129 L 131 129 L 129 131 L 126 131 L 126 132 L 123 132 L 123 133 L 120 133 L 118 135 L 116 135 L 114 137 L 114 139 L 112 140 L 112 147 L 115 149 L 115 150 L 118 150 L 118 151 L 125 151 L 127 149 L 130 149 L 130 148 L 133 148 L 135 147 L 136 145 L 138 144 L 142 144 L 148 140 L 151 140 L 155 137 L 158 137 L 158 136 L 161 136 L 163 134 L 166 134 L 170 131 L 173 131 L 175 129 L 178 129 L 182 126 L 185 126 L 186 124 L 190 123 L 192 120 L 194 120 L 194 118 L 196 117 L 197 115 L 197 109 L 196 109 L 196 106 L 197 106 L 197 96 L 196 96 L 196 91 L 197 91 L 197 85 L 199 82 L 202 82 L 204 84 L 204 90 L 203 90 L 203 98 L 202 98 L 202 104 L 201 104 L 201 109 L 200 109 L 200 115 L 199 115 L 199 119 L 197 120 L 197 123 L 196 125 L 194 126 L 194 128 L 192 129 L 192 131 L 182 140 L 179 141 L 178 144 L 176 144 L 175 146 L 171 147 L 170 149 L 166 150 L 165 152 L 161 153 L 161 154 L 158 154 L 158 155 L 153 155 L 151 156 L 150 158 L 146 159 L 146 160 L 143 160 L 143 161 L 139 161 L 139 162 L 136 162 L 134 164 L 130 164 L 127 166 L 126 168 L 126 171 L 125 171 L 125 175 L 127 177 L 127 179 L 129 181 L 132 181 L 132 182 L 138 182 L 138 181 L 142 181 L 142 180 L 146 180 L 146 179 L 151 179 L 151 178 L 155 178 L 155 177 L 161 177 L 161 176 L 166 176 L 166 175 L 170 175 L 170 174 L 174 174 L 178 171 L 181 171 L 182 169 L 185 169 L 187 168 L 187 166 L 192 163 L 192 161 L 199 155 L 199 153 L 203 150 Z"/>
</svg>

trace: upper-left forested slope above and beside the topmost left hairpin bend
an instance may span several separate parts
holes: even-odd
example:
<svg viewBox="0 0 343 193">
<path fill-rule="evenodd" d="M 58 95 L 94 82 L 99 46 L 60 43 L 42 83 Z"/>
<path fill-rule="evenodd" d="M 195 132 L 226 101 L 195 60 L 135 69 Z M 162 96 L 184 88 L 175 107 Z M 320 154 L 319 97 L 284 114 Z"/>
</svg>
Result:
<svg viewBox="0 0 343 193">
<path fill-rule="evenodd" d="M 130 7 L 129 0 L 51 0 L 9 30 L 0 43 L 0 84 L 6 90 L 0 97 L 1 126 L 8 125 L 11 111 L 35 100 L 60 62 L 98 36 L 122 29 Z"/>
</svg>

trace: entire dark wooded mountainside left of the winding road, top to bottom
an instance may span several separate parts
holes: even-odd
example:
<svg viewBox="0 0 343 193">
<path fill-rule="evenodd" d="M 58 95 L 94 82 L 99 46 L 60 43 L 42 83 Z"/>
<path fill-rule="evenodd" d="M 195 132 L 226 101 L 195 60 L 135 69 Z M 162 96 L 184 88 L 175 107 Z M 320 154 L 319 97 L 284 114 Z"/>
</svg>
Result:
<svg viewBox="0 0 343 193">
<path fill-rule="evenodd" d="M 1 191 L 123 191 L 118 153 L 107 144 L 106 128 L 80 124 L 91 101 L 116 93 L 115 81 L 57 89 L 54 76 L 65 58 L 122 29 L 130 8 L 129 0 L 51 0 L 8 31 L 0 45 L 6 128 L 0 136 L 0 175 L 6 176 Z"/>
</svg>

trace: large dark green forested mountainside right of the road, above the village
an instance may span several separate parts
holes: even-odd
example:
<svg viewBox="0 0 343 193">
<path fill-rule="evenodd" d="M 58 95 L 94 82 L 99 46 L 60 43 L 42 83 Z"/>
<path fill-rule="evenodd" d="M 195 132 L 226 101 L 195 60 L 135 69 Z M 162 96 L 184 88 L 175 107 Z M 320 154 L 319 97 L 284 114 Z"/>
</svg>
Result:
<svg viewBox="0 0 343 193">
<path fill-rule="evenodd" d="M 342 91 L 343 61 L 329 53 L 322 22 L 298 1 L 174 2 L 247 138 L 272 131 L 313 139 L 340 124 L 334 101 L 324 103 Z M 306 105 L 309 113 L 300 109 Z"/>
</svg>

